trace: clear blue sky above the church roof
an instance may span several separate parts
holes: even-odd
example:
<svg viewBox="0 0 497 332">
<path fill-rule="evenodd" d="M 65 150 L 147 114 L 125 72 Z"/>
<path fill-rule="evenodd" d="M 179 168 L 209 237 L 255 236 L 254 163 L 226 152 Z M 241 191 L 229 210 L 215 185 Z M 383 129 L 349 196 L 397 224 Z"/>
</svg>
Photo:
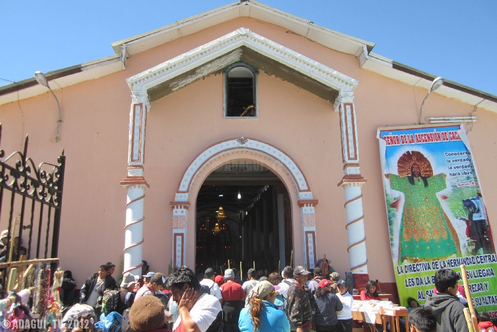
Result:
<svg viewBox="0 0 497 332">
<path fill-rule="evenodd" d="M 497 95 L 495 0 L 262 2 L 376 43 L 373 52 L 387 58 Z M 111 42 L 229 3 L 1 1 L 0 78 L 19 81 L 109 56 Z"/>
</svg>

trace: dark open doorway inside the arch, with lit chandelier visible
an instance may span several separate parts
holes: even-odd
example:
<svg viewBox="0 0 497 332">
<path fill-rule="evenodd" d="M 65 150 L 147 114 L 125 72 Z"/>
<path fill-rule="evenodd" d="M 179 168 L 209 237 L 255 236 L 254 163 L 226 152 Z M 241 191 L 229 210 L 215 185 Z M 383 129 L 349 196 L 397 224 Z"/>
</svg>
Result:
<svg viewBox="0 0 497 332">
<path fill-rule="evenodd" d="M 225 164 L 207 176 L 197 195 L 195 230 L 197 273 L 228 266 L 273 271 L 293 258 L 290 195 L 254 160 Z"/>
</svg>

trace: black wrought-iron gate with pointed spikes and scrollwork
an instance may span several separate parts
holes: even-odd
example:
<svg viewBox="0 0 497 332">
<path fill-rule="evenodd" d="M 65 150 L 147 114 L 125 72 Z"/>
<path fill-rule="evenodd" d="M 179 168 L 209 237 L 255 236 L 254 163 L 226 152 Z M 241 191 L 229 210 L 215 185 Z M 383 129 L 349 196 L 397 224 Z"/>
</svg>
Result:
<svg viewBox="0 0 497 332">
<path fill-rule="evenodd" d="M 0 262 L 57 257 L 66 157 L 62 150 L 57 165 L 35 166 L 27 149 L 26 135 L 23 151 L 4 158 L 0 123 L 0 227 L 7 233 L 0 242 Z"/>
</svg>

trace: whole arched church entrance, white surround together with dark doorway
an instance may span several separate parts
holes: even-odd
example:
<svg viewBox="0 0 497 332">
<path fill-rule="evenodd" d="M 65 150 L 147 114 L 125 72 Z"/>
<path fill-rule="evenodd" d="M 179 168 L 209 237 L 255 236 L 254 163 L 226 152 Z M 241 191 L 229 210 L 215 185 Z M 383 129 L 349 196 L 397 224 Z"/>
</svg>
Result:
<svg viewBox="0 0 497 332">
<path fill-rule="evenodd" d="M 247 172 L 250 166 L 251 173 L 242 181 L 239 167 Z M 239 189 L 242 197 L 247 196 L 247 205 L 238 203 Z M 217 264 L 225 268 L 223 264 L 234 259 L 237 268 L 242 261 L 246 271 L 254 261 L 256 268 L 269 269 L 291 264 L 293 258 L 293 264 L 314 268 L 317 203 L 302 170 L 282 150 L 243 137 L 215 143 L 185 169 L 175 200 L 170 202 L 173 266 L 201 269 Z M 220 211 L 226 218 L 219 218 Z M 211 232 L 216 233 L 212 238 Z M 226 243 L 221 246 L 222 232 Z M 271 252 L 276 248 L 276 253 Z M 213 249 L 218 252 L 217 263 L 212 259 Z"/>
</svg>

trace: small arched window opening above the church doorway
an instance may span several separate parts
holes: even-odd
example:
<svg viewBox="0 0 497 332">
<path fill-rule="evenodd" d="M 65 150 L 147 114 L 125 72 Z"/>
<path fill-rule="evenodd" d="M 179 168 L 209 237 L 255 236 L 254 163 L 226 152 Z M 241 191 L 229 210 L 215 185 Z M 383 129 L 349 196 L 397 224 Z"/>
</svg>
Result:
<svg viewBox="0 0 497 332">
<path fill-rule="evenodd" d="M 225 74 L 225 116 L 256 117 L 255 74 L 246 66 L 237 66 Z"/>
</svg>

